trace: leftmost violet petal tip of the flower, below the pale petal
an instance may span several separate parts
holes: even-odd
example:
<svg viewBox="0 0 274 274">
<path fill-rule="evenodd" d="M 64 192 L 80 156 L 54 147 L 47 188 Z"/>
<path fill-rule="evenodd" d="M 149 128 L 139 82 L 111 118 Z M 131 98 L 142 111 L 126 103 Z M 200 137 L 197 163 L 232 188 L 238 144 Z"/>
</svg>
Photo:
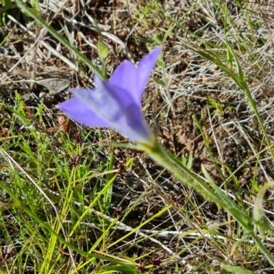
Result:
<svg viewBox="0 0 274 274">
<path fill-rule="evenodd" d="M 110 127 L 107 121 L 101 119 L 93 112 L 86 103 L 78 98 L 72 98 L 64 103 L 60 103 L 58 108 L 68 114 L 73 120 L 90 127 Z"/>
</svg>

